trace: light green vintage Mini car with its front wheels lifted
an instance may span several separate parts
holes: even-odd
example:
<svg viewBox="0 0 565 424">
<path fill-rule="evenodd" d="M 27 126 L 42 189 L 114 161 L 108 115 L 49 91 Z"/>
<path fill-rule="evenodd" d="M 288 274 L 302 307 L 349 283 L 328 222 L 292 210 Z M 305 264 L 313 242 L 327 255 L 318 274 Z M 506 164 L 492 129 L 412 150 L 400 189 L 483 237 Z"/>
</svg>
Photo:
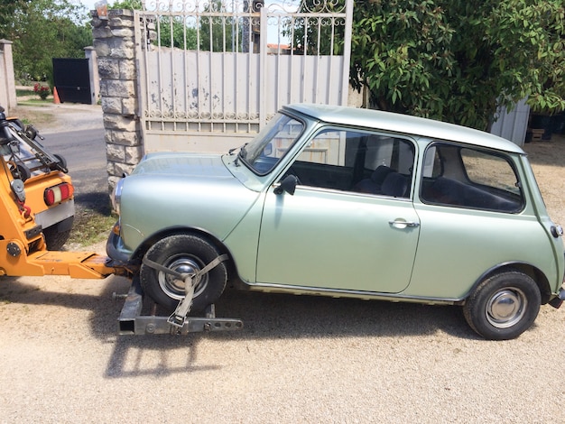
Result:
<svg viewBox="0 0 565 424">
<path fill-rule="evenodd" d="M 540 305 L 565 299 L 562 230 L 525 153 L 453 124 L 284 106 L 231 152 L 147 154 L 113 198 L 107 253 L 140 265 L 144 292 L 169 309 L 186 291 L 166 270 L 198 272 L 220 255 L 227 261 L 201 277 L 192 310 L 232 281 L 460 305 L 479 335 L 509 339 Z"/>
</svg>

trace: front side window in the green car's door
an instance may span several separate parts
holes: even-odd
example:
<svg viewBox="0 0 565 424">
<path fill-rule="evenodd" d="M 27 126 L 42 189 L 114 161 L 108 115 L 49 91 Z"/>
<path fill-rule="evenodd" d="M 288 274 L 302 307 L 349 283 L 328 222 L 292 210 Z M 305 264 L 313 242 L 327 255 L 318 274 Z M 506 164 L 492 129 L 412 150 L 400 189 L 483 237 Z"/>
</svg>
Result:
<svg viewBox="0 0 565 424">
<path fill-rule="evenodd" d="M 413 163 L 408 140 L 330 128 L 312 138 L 288 173 L 304 186 L 407 198 Z"/>
</svg>

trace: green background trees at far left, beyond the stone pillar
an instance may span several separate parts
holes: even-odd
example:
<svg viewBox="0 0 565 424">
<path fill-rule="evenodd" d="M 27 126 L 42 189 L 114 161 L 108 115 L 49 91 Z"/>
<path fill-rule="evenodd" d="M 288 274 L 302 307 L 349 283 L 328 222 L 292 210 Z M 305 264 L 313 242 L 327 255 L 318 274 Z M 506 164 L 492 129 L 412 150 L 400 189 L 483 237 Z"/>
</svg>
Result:
<svg viewBox="0 0 565 424">
<path fill-rule="evenodd" d="M 0 38 L 14 42 L 18 78 L 51 78 L 52 58 L 84 58 L 92 44 L 86 10 L 67 0 L 0 0 L 0 14 Z"/>
</svg>

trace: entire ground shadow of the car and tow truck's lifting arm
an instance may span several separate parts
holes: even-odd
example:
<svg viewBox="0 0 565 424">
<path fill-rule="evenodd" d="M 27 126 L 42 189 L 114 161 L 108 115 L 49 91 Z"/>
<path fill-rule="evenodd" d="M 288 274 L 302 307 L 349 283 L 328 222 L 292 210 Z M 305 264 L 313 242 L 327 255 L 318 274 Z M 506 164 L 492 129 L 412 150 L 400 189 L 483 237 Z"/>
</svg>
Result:
<svg viewBox="0 0 565 424">
<path fill-rule="evenodd" d="M 118 336 L 117 318 L 123 301 L 113 294 L 125 294 L 130 281 L 111 276 L 100 281 L 100 294 L 54 292 L 4 277 L 0 281 L 0 303 L 51 305 L 85 309 L 93 336 L 113 344 L 105 376 L 125 378 L 142 375 L 199 372 L 218 369 L 197 365 L 203 340 L 236 343 L 261 339 L 320 339 L 324 337 L 395 337 L 433 335 L 444 332 L 464 339 L 477 339 L 458 307 L 425 306 L 376 300 L 332 299 L 314 296 L 268 294 L 227 289 L 216 303 L 218 318 L 240 318 L 241 330 L 193 333 L 188 336 Z M 80 284 L 80 281 L 77 281 Z M 74 282 L 73 282 L 74 284 Z M 158 357 L 152 361 L 151 354 Z M 174 356 L 174 360 L 171 358 Z"/>
</svg>

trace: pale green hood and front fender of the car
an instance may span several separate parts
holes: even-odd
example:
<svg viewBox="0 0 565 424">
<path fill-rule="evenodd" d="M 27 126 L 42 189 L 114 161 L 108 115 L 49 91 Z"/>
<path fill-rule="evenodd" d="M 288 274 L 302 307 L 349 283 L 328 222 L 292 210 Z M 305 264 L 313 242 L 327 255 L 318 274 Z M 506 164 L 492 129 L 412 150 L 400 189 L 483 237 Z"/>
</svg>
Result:
<svg viewBox="0 0 565 424">
<path fill-rule="evenodd" d="M 224 239 L 255 204 L 219 154 L 153 153 L 125 178 L 120 219 L 126 247 L 167 228 L 206 229 Z"/>
</svg>

